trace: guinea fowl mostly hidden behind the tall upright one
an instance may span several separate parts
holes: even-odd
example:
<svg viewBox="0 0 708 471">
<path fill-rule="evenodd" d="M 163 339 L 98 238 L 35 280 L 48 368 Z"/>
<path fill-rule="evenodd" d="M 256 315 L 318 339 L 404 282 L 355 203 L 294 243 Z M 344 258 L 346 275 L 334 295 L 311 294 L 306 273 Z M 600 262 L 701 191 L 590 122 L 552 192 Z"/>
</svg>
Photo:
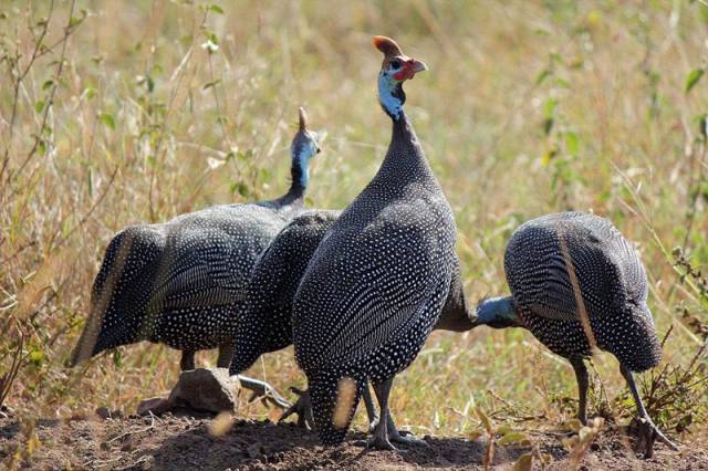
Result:
<svg viewBox="0 0 708 471">
<path fill-rule="evenodd" d="M 231 375 L 250 368 L 264 353 L 292 344 L 292 304 L 308 264 L 341 211 L 306 210 L 285 226 L 263 251 L 251 271 L 244 300 L 235 315 L 235 355 L 229 367 Z M 442 310 L 436 328 L 464 331 L 471 328 L 459 270 L 454 289 Z M 301 427 L 313 423 L 310 397 L 306 391 L 291 388 L 300 398 L 282 418 L 296 414 Z M 377 420 L 368 387 L 363 389 L 369 425 Z"/>
</svg>

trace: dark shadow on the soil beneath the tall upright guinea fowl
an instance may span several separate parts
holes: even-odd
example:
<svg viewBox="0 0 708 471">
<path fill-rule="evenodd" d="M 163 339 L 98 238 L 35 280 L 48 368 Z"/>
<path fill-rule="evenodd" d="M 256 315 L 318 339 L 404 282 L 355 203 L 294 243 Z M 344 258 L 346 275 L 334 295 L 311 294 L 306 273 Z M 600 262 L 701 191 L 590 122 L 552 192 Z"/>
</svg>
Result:
<svg viewBox="0 0 708 471">
<path fill-rule="evenodd" d="M 149 452 L 153 469 L 287 469 L 355 468 L 381 469 L 389 465 L 415 468 L 477 467 L 483 462 L 486 443 L 464 438 L 425 437 L 427 446 L 402 446 L 399 451 L 365 447 L 367 435 L 351 432 L 336 447 L 320 444 L 316 433 L 293 423 L 240 420 L 220 437 L 209 433 L 201 422 L 169 435 Z M 528 452 L 506 447 L 494 453 L 493 464 L 516 461 Z"/>
</svg>

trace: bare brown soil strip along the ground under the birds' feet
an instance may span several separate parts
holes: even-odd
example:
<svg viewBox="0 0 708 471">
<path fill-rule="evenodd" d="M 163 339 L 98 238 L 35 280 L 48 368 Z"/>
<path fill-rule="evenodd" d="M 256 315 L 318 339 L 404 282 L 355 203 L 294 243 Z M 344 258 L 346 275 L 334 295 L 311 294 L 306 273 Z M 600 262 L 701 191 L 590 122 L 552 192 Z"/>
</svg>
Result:
<svg viewBox="0 0 708 471">
<path fill-rule="evenodd" d="M 362 432 L 352 432 L 342 446 L 322 447 L 313 432 L 268 420 L 237 420 L 229 431 L 215 437 L 209 432 L 212 419 L 180 410 L 160 417 L 40 420 L 34 428 L 39 446 L 28 447 L 32 435 L 10 417 L 0 419 L 0 463 L 7 465 L 12 456 L 24 452 L 18 464 L 30 469 L 481 469 L 486 451 L 483 439 L 464 437 L 425 437 L 428 447 L 374 451 L 365 448 Z M 539 432 L 533 441 L 552 457 L 548 469 L 569 469 L 570 453 L 558 436 Z M 684 443 L 679 452 L 657 443 L 654 459 L 643 460 L 626 441 L 612 429 L 605 431 L 583 457 L 581 469 L 708 470 L 705 442 Z M 510 469 L 529 450 L 496 447 L 494 469 Z"/>
</svg>

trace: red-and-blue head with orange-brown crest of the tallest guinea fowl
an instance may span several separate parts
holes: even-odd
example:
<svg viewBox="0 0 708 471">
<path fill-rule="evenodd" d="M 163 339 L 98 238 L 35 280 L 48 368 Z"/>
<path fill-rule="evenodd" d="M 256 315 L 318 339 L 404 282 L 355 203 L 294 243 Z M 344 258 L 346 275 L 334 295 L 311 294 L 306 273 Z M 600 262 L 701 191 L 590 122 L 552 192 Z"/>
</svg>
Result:
<svg viewBox="0 0 708 471">
<path fill-rule="evenodd" d="M 392 118 L 398 119 L 406 102 L 403 83 L 418 72 L 427 71 L 425 63 L 407 56 L 394 40 L 374 36 L 376 49 L 384 53 L 384 62 L 378 74 L 378 100 Z"/>
</svg>

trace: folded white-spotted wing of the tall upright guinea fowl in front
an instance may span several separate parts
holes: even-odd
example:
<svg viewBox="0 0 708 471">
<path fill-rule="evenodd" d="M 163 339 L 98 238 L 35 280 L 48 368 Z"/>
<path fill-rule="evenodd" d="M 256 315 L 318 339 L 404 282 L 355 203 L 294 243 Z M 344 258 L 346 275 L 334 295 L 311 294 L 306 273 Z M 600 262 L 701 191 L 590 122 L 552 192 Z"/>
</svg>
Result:
<svg viewBox="0 0 708 471">
<path fill-rule="evenodd" d="M 397 217 L 330 233 L 308 269 L 298 303 L 314 315 L 295 318 L 302 324 L 294 328 L 324 346 L 306 353 L 320 366 L 367 357 L 400 338 L 421 315 L 439 315 L 449 289 L 444 245 L 454 241 L 436 231 L 441 228 L 425 227 L 415 206 L 391 211 Z M 438 295 L 441 284 L 445 293 Z M 430 307 L 433 299 L 439 306 Z"/>
</svg>

